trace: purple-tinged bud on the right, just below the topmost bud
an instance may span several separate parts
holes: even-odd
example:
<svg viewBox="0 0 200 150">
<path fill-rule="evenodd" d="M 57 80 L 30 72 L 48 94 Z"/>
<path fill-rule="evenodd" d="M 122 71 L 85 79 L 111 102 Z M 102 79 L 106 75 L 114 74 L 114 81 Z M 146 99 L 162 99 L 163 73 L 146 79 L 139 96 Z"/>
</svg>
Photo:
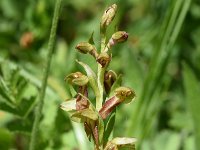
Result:
<svg viewBox="0 0 200 150">
<path fill-rule="evenodd" d="M 115 32 L 110 41 L 109 41 L 109 44 L 111 46 L 115 45 L 116 43 L 122 43 L 122 42 L 125 42 L 126 40 L 128 39 L 128 33 L 125 32 L 125 31 L 118 31 L 118 32 Z"/>
</svg>

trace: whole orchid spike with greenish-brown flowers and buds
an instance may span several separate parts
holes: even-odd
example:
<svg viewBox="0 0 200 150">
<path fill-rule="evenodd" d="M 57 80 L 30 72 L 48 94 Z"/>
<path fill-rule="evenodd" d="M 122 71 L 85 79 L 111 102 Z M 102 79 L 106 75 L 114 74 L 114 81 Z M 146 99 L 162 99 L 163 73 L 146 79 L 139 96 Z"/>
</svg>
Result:
<svg viewBox="0 0 200 150">
<path fill-rule="evenodd" d="M 77 60 L 86 74 L 74 72 L 65 77 L 73 96 L 61 104 L 72 121 L 82 123 L 88 139 L 94 142 L 95 150 L 118 150 L 121 147 L 135 149 L 135 138 L 112 138 L 116 107 L 123 103 L 130 103 L 135 98 L 135 92 L 129 87 L 121 86 L 121 75 L 113 70 L 107 70 L 112 59 L 111 48 L 125 42 L 128 34 L 125 31 L 115 32 L 106 40 L 106 30 L 111 24 L 117 11 L 117 5 L 108 7 L 101 19 L 101 50 L 94 45 L 93 35 L 88 42 L 80 42 L 76 49 L 82 54 L 89 54 L 97 62 L 97 74 L 85 63 Z M 106 42 L 108 41 L 108 42 Z M 95 99 L 88 96 L 91 87 Z"/>
</svg>

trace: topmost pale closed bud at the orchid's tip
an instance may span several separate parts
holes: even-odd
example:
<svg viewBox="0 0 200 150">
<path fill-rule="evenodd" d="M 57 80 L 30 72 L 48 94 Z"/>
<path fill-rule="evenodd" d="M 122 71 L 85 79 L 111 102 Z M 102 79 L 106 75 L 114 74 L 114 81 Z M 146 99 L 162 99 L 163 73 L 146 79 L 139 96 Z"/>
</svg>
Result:
<svg viewBox="0 0 200 150">
<path fill-rule="evenodd" d="M 117 11 L 117 5 L 113 4 L 105 10 L 101 18 L 101 29 L 105 29 L 114 19 Z"/>
</svg>

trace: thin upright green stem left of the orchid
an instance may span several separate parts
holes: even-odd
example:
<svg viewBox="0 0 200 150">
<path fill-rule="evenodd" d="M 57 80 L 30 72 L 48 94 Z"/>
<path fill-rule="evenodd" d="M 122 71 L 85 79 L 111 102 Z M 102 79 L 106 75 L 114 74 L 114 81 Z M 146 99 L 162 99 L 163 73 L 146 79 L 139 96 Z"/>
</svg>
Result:
<svg viewBox="0 0 200 150">
<path fill-rule="evenodd" d="M 41 90 L 40 90 L 40 93 L 39 93 L 39 102 L 38 102 L 38 105 L 37 105 L 36 110 L 35 110 L 35 120 L 34 120 L 34 123 L 33 123 L 29 150 L 34 150 L 35 147 L 36 147 L 36 138 L 37 138 L 37 135 L 38 135 L 39 122 L 40 122 L 40 118 L 41 118 L 41 115 L 42 115 L 42 108 L 43 108 L 43 104 L 44 104 L 45 90 L 46 90 L 46 86 L 47 86 L 47 78 L 48 78 L 48 74 L 49 74 L 49 70 L 50 70 L 51 59 L 52 59 L 52 56 L 53 56 L 53 48 L 54 48 L 54 45 L 55 45 L 55 36 L 56 36 L 57 23 L 58 23 L 59 12 L 60 12 L 60 7 L 61 7 L 61 1 L 62 0 L 57 0 L 56 5 L 55 5 L 52 27 L 51 27 L 51 33 L 50 33 L 50 38 L 49 38 L 49 42 L 48 42 L 47 61 L 46 61 L 44 73 L 43 73 L 42 87 L 41 87 Z"/>
</svg>

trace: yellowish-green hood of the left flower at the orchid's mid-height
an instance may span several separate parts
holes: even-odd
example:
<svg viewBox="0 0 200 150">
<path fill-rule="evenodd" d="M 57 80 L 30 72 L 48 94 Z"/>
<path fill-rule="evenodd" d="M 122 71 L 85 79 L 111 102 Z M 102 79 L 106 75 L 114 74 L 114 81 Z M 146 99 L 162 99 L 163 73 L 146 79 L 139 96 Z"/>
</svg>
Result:
<svg viewBox="0 0 200 150">
<path fill-rule="evenodd" d="M 78 86 L 84 86 L 88 83 L 88 77 L 81 72 L 71 73 L 65 77 L 65 81 Z"/>
</svg>

